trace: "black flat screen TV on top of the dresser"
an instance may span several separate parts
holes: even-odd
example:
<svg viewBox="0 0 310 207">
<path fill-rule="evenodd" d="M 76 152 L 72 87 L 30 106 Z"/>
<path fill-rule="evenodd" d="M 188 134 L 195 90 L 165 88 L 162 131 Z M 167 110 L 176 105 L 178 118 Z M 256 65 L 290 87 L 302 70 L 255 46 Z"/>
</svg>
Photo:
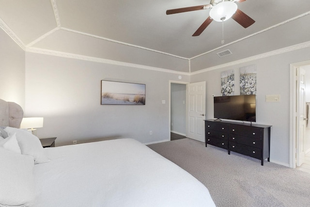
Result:
<svg viewBox="0 0 310 207">
<path fill-rule="evenodd" d="M 256 122 L 256 95 L 215 96 L 214 118 Z"/>
</svg>

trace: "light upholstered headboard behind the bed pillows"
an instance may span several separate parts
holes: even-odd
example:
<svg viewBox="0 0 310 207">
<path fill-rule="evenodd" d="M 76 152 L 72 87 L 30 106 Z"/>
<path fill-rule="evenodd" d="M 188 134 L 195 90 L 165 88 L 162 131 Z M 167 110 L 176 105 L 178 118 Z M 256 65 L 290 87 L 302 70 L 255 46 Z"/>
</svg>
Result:
<svg viewBox="0 0 310 207">
<path fill-rule="evenodd" d="M 19 128 L 24 111 L 14 102 L 0 99 L 0 126 Z"/>
</svg>

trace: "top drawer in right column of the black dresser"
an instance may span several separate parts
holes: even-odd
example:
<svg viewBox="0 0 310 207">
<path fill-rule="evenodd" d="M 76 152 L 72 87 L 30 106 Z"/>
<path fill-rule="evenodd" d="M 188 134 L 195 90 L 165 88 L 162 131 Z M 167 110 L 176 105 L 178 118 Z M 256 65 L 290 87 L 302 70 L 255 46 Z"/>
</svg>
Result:
<svg viewBox="0 0 310 207">
<path fill-rule="evenodd" d="M 229 133 L 238 134 L 246 137 L 253 137 L 257 139 L 261 139 L 262 130 L 258 127 L 249 127 L 249 126 L 241 126 L 241 125 L 230 125 Z"/>
</svg>

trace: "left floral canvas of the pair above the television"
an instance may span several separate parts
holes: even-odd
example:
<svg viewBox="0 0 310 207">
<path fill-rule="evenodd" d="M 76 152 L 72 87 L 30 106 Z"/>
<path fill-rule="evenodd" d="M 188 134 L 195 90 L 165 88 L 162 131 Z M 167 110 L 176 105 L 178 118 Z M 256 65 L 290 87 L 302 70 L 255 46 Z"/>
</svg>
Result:
<svg viewBox="0 0 310 207">
<path fill-rule="evenodd" d="M 221 94 L 222 96 L 233 96 L 234 92 L 234 71 L 227 70 L 221 73 Z"/>
</svg>

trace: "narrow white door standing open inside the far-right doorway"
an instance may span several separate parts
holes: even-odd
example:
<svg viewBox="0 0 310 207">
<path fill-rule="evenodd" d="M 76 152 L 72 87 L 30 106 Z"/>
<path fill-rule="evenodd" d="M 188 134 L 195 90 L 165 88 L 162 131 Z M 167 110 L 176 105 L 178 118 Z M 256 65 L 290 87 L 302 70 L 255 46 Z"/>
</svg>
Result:
<svg viewBox="0 0 310 207">
<path fill-rule="evenodd" d="M 306 99 L 305 99 L 305 69 L 296 68 L 297 81 L 297 103 L 296 103 L 296 165 L 300 166 L 305 160 L 304 137 L 307 126 Z"/>
</svg>

